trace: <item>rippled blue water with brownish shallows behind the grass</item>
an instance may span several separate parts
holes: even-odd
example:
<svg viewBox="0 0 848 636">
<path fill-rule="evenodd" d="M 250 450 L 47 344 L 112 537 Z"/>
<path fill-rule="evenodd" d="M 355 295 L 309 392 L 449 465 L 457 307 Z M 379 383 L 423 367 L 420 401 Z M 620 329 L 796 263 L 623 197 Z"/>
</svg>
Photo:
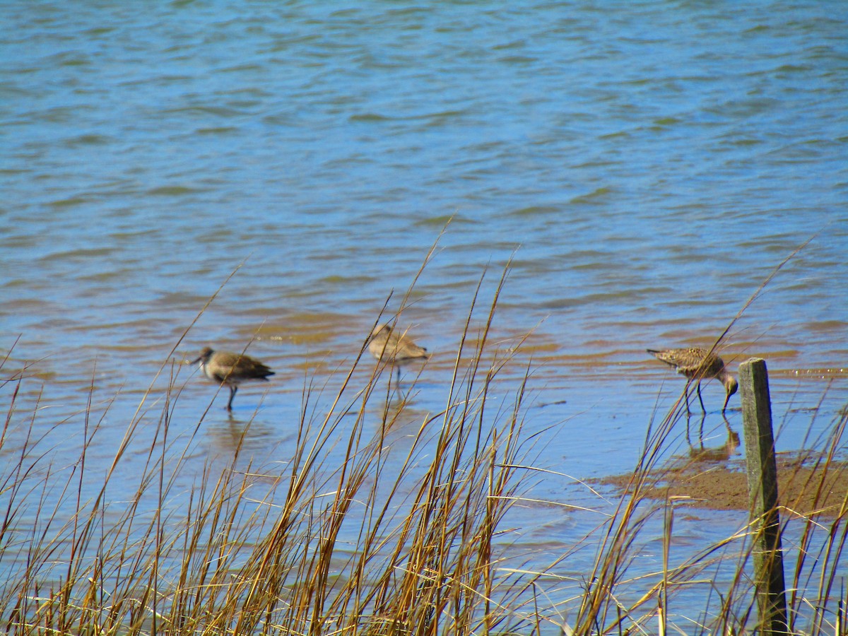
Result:
<svg viewBox="0 0 848 636">
<path fill-rule="evenodd" d="M 91 393 L 106 415 L 90 462 L 105 471 L 148 387 L 143 408 L 161 409 L 150 404 L 170 371 L 156 373 L 221 285 L 175 360 L 254 338 L 248 352 L 276 376 L 245 385 L 233 421 L 218 396 L 198 474 L 209 457 L 226 463 L 258 406 L 246 448 L 279 459 L 304 382 L 326 383 L 328 403 L 433 244 L 401 321 L 434 355 L 399 439 L 444 408 L 477 283 L 486 272 L 473 333 L 510 259 L 492 338 L 507 351 L 532 333 L 494 399 L 509 403 L 530 366 L 526 431 L 547 431 L 538 466 L 630 470 L 683 385 L 644 349 L 711 345 L 811 237 L 722 356 L 734 370 L 767 360 L 779 449 L 816 438 L 848 401 L 844 3 L 40 2 L 3 14 L 0 346 L 5 377 L 30 365 L 0 449 L 10 461 L 36 408 L 57 465 L 78 456 Z M 191 432 L 215 387 L 175 368 L 171 426 Z M 722 398 L 706 386 L 707 444 L 722 444 Z M 739 430 L 738 397 L 731 407 Z M 143 460 L 141 442 L 133 452 Z M 583 496 L 565 479 L 537 488 Z M 744 522 L 694 516 L 708 522 L 683 526 L 683 544 Z M 517 544 L 538 547 L 539 563 L 596 523 L 555 507 L 535 521 Z"/>
</svg>

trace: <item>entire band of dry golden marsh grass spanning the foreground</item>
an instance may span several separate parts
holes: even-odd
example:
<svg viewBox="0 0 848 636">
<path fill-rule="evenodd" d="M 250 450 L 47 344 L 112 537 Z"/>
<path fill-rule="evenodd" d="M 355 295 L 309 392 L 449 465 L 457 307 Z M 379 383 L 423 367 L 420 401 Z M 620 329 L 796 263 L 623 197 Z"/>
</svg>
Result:
<svg viewBox="0 0 848 636">
<path fill-rule="evenodd" d="M 522 528 L 505 527 L 510 510 L 532 499 L 538 479 L 564 476 L 533 465 L 538 449 L 523 431 L 531 366 L 510 375 L 517 378 L 510 399 L 490 399 L 505 367 L 519 365 L 520 347 L 499 349 L 490 339 L 505 276 L 482 309 L 477 287 L 444 408 L 422 417 L 402 448 L 389 438 L 408 394 L 389 392 L 392 370 L 379 365 L 357 386 L 363 341 L 329 399 L 329 383 L 304 382 L 300 420 L 285 423 L 298 431 L 285 456 L 254 466 L 243 449 L 248 425 L 229 463 L 207 463 L 190 488 L 180 476 L 193 469 L 187 458 L 205 414 L 187 434 L 175 430 L 185 386 L 180 365 L 163 363 L 167 390 L 152 403 L 142 399 L 104 470 L 89 460 L 109 411 L 108 403 L 94 404 L 93 381 L 79 455 L 57 466 L 40 432 L 49 411 L 44 415 L 36 399 L 31 416 L 17 412 L 27 371 L 9 371 L 7 355 L 0 364 L 0 389 L 8 395 L 0 448 L 10 427 L 29 424 L 16 437 L 20 447 L 3 449 L 0 472 L 3 628 L 98 636 L 754 633 L 756 525 L 675 562 L 679 502 L 647 495 L 650 475 L 662 470 L 680 430 L 683 395 L 649 427 L 625 492 L 611 503 L 597 496 L 597 509 L 587 513 L 601 520 L 594 531 L 562 545 L 561 556 L 538 571 L 516 565 L 510 547 Z M 400 311 L 408 300 L 409 293 Z M 823 471 L 835 470 L 844 431 L 843 411 L 820 460 Z M 142 456 L 143 468 L 133 473 L 135 491 L 122 488 L 114 499 L 115 476 L 130 453 Z M 845 634 L 846 510 L 844 502 L 828 520 L 791 522 L 801 524 L 787 576 L 793 633 Z M 644 544 L 656 541 L 650 528 L 658 521 L 661 566 L 633 574 Z M 587 546 L 596 554 L 591 571 L 576 594 L 555 598 L 546 584 Z M 696 616 L 690 597 L 678 602 L 693 589 L 703 599 Z"/>
</svg>

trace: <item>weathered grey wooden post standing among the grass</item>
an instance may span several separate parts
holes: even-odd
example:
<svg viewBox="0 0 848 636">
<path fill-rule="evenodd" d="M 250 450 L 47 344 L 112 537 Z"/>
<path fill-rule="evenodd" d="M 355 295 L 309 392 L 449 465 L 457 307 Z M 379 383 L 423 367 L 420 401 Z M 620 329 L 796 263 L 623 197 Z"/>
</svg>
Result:
<svg viewBox="0 0 848 636">
<path fill-rule="evenodd" d="M 765 360 L 751 358 L 739 365 L 739 394 L 745 427 L 750 516 L 755 531 L 754 582 L 760 609 L 760 633 L 763 636 L 788 634 L 778 514 L 778 467 L 774 459 L 772 403 Z"/>
</svg>

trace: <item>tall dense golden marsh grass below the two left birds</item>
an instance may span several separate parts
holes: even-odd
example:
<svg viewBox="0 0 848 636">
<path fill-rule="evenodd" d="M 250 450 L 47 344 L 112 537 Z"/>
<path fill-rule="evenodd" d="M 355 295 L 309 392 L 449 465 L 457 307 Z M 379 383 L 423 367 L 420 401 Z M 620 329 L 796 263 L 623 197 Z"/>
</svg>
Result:
<svg viewBox="0 0 848 636">
<path fill-rule="evenodd" d="M 420 422 L 399 471 L 396 460 L 387 469 L 393 449 L 386 435 L 403 413 L 404 396 L 383 391 L 381 376 L 391 369 L 376 368 L 364 388 L 353 386 L 365 341 L 320 415 L 312 404 L 326 397 L 324 388 L 304 387 L 287 457 L 245 466 L 237 444 L 229 466 L 207 465 L 187 492 L 177 477 L 187 470 L 204 419 L 188 435 L 173 430 L 184 386 L 179 363 L 162 366 L 160 372 L 170 371 L 164 396 L 153 404 L 148 395 L 142 399 L 105 470 L 88 459 L 109 410 L 107 404 L 95 415 L 93 382 L 72 466 L 55 466 L 45 438 L 37 438 L 36 406 L 19 436 L 22 447 L 6 455 L 0 477 L 0 555 L 8 577 L 0 586 L 3 628 L 508 631 L 515 603 L 497 572 L 494 544 L 505 511 L 521 495 L 515 466 L 525 383 L 509 409 L 488 412 L 488 392 L 511 356 L 490 354 L 488 342 L 504 281 L 472 334 L 473 298 L 444 409 Z M 4 432 L 20 421 L 15 397 L 22 375 L 7 376 L 12 399 Z M 135 492 L 111 500 L 115 476 L 126 483 L 122 466 L 139 449 Z"/>
</svg>

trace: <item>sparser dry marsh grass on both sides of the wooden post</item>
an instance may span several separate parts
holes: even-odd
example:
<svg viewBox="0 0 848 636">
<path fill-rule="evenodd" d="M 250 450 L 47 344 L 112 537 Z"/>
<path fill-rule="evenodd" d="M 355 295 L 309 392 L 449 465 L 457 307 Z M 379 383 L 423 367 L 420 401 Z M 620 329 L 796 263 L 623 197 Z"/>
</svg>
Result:
<svg viewBox="0 0 848 636">
<path fill-rule="evenodd" d="M 679 490 L 688 495 L 669 494 L 678 488 L 657 488 L 658 484 L 680 483 L 689 471 L 715 475 L 727 470 L 723 446 L 712 454 L 703 449 L 690 449 L 689 456 L 670 453 L 670 449 L 681 449 L 675 433 L 686 419 L 681 395 L 646 437 L 638 466 L 629 475 L 610 482 L 593 480 L 618 484 L 615 492 L 620 495 L 612 499 L 609 519 L 584 539 L 595 547 L 596 558 L 579 592 L 573 594 L 573 583 L 563 586 L 572 591 L 563 633 L 760 633 L 751 578 L 758 519 L 748 521 L 746 510 L 739 510 L 736 532 L 700 547 L 692 545 L 683 556 L 681 550 L 674 550 L 678 519 L 690 516 L 692 505 L 698 507 L 699 493 L 697 488 L 683 487 Z M 834 505 L 823 486 L 832 477 L 840 476 L 843 483 L 848 477 L 846 425 L 843 409 L 830 423 L 827 436 L 817 440 L 817 450 L 808 449 L 784 463 L 784 477 L 806 486 L 802 498 L 781 499 L 778 509 L 790 633 L 846 633 L 848 499 L 843 497 Z M 709 519 L 713 513 L 695 514 Z M 656 563 L 653 571 L 639 562 L 646 554 L 649 562 Z"/>
</svg>

